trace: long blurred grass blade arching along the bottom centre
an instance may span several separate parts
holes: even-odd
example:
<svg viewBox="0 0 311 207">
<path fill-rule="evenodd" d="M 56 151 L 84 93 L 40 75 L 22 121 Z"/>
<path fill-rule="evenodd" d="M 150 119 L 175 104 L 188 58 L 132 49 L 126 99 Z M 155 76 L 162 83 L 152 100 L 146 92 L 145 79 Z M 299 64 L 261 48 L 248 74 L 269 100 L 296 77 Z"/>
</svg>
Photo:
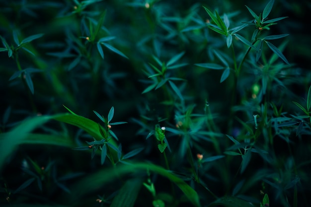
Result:
<svg viewBox="0 0 311 207">
<path fill-rule="evenodd" d="M 102 188 L 105 183 L 111 182 L 115 179 L 120 179 L 120 176 L 128 176 L 131 172 L 146 172 L 147 170 L 157 173 L 175 183 L 194 207 L 201 207 L 197 192 L 181 178 L 175 176 L 171 171 L 168 171 L 160 166 L 152 163 L 139 162 L 134 162 L 131 165 L 117 165 L 113 168 L 101 169 L 79 179 L 74 185 L 72 185 L 72 193 L 67 197 L 68 202 L 75 202 L 77 198 L 80 198 L 82 195 L 96 192 Z M 96 182 L 94 182 L 94 180 Z M 87 186 L 87 188 L 81 188 L 81 186 Z M 126 192 L 129 193 L 130 190 L 127 189 Z"/>
</svg>

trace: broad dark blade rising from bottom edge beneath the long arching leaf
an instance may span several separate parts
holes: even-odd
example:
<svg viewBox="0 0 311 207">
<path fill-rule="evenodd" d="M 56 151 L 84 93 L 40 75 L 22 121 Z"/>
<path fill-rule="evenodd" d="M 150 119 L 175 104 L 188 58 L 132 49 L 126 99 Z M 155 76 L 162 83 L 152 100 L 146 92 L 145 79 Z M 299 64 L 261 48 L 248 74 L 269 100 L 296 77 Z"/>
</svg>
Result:
<svg viewBox="0 0 311 207">
<path fill-rule="evenodd" d="M 142 184 L 142 178 L 135 178 L 126 181 L 119 190 L 119 193 L 113 199 L 110 207 L 134 207 Z"/>
</svg>

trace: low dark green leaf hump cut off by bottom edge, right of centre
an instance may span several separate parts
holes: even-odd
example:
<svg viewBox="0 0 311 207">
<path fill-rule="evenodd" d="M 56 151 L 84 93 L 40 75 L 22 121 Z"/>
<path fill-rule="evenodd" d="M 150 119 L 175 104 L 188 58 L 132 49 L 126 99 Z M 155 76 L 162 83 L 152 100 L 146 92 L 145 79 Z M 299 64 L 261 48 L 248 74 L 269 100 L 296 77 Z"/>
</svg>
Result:
<svg viewBox="0 0 311 207">
<path fill-rule="evenodd" d="M 218 207 L 218 206 L 222 206 L 222 207 L 254 207 L 250 203 L 248 203 L 242 199 L 233 197 L 233 196 L 222 197 L 222 198 L 214 201 L 213 203 L 211 203 L 207 207 Z"/>
</svg>

